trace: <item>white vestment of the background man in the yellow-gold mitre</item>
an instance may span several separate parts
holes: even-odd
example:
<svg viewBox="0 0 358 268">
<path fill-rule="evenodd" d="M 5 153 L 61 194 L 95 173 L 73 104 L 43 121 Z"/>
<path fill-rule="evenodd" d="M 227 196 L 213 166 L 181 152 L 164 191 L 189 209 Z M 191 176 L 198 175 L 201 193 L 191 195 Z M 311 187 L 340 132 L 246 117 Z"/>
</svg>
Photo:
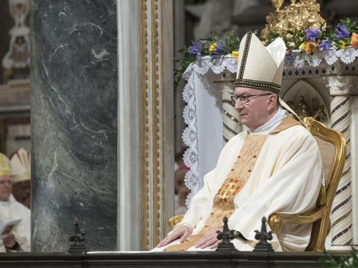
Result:
<svg viewBox="0 0 358 268">
<path fill-rule="evenodd" d="M 21 219 L 13 234 L 22 251 L 30 251 L 30 209 L 16 201 L 15 198 L 10 195 L 9 200 L 2 202 L 0 206 L 0 219 L 4 222 Z M 0 243 L 0 251 L 5 251 L 2 241 Z"/>
</svg>

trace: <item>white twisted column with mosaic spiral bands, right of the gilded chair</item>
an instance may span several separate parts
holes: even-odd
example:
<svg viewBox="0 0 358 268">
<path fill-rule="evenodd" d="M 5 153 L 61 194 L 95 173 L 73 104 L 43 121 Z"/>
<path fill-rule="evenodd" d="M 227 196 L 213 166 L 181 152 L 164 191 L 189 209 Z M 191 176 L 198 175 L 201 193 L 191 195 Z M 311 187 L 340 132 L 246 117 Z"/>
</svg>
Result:
<svg viewBox="0 0 358 268">
<path fill-rule="evenodd" d="M 350 249 L 357 244 L 357 161 L 355 139 L 358 124 L 355 76 L 328 76 L 331 95 L 331 128 L 343 133 L 347 140 L 347 158 L 331 212 L 331 247 Z"/>
</svg>

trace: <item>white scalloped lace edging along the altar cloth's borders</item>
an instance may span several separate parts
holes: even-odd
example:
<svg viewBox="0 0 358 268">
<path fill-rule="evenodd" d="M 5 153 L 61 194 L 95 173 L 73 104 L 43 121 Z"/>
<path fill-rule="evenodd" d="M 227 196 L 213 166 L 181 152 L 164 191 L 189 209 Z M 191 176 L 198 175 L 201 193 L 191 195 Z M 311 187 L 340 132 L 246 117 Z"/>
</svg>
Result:
<svg viewBox="0 0 358 268">
<path fill-rule="evenodd" d="M 301 68 L 305 63 L 312 67 L 317 67 L 324 59 L 328 65 L 333 65 L 340 59 L 345 64 L 352 63 L 358 57 L 358 50 L 354 48 L 342 49 L 335 51 L 330 49 L 324 52 L 306 55 L 301 51 L 292 51 L 293 60 L 286 62 L 286 65 L 292 64 L 294 67 Z M 189 65 L 183 73 L 182 77 L 187 80 L 183 91 L 183 99 L 186 102 L 184 107 L 183 117 L 187 125 L 185 128 L 182 139 L 188 146 L 184 153 L 184 163 L 190 168 L 185 175 L 185 185 L 191 190 L 185 204 L 189 205 L 191 198 L 195 195 L 202 186 L 202 179 L 199 178 L 199 151 L 198 151 L 198 136 L 197 136 L 197 118 L 196 118 L 196 98 L 195 98 L 195 75 L 204 75 L 209 70 L 215 74 L 223 72 L 225 69 L 232 73 L 237 71 L 237 59 L 232 58 L 231 55 L 222 56 L 219 58 L 212 58 L 205 56 L 201 60 L 197 60 Z"/>
</svg>

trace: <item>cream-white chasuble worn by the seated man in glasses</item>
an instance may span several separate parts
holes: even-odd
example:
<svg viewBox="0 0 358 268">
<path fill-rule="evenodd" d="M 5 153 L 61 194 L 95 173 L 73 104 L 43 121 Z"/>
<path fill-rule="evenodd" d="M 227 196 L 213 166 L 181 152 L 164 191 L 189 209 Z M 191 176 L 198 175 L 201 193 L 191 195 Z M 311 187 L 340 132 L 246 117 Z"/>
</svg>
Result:
<svg viewBox="0 0 358 268">
<path fill-rule="evenodd" d="M 275 212 L 297 214 L 310 210 L 316 205 L 321 187 L 320 153 L 316 140 L 308 130 L 288 115 L 273 131 L 270 129 L 266 134 L 260 132 L 258 136 L 263 135 L 265 138 L 259 152 L 249 154 L 252 158 L 248 161 L 254 162 L 252 170 L 245 171 L 249 177 L 235 188 L 238 191 L 231 192 L 233 201 L 229 212 L 232 213 L 226 215 L 229 228 L 241 232 L 248 240 L 232 240 L 235 248 L 241 251 L 251 251 L 259 242 L 254 231 L 261 230 L 263 216 L 269 218 Z M 238 156 L 243 155 L 242 149 L 250 145 L 246 141 L 254 136 L 242 132 L 230 139 L 221 151 L 216 168 L 204 176 L 203 188 L 193 197 L 183 220 L 175 227 L 186 225 L 193 229 L 190 237 L 194 239 L 189 237 L 187 240 L 202 236 L 208 222 L 212 221 L 212 213 L 217 214 L 215 203 L 227 186 L 227 180 L 233 177 L 233 169 L 238 168 L 235 164 Z M 257 143 L 257 138 L 252 140 Z M 243 178 L 238 179 L 241 181 Z M 280 236 L 277 238 L 273 234 L 269 243 L 275 251 L 304 251 L 310 240 L 311 227 L 311 224 L 286 224 Z M 179 244 L 176 240 L 154 251 L 183 250 Z M 194 245 L 184 250 L 200 250 Z"/>
</svg>

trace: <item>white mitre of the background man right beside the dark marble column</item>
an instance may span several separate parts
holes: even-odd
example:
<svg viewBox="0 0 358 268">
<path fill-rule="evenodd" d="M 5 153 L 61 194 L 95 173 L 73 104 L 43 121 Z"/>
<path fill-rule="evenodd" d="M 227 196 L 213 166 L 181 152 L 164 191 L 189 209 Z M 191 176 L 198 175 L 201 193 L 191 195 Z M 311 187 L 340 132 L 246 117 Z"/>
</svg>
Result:
<svg viewBox="0 0 358 268">
<path fill-rule="evenodd" d="M 13 183 L 29 181 L 31 179 L 30 154 L 24 148 L 20 148 L 12 153 L 10 156 L 10 166 Z"/>
</svg>

